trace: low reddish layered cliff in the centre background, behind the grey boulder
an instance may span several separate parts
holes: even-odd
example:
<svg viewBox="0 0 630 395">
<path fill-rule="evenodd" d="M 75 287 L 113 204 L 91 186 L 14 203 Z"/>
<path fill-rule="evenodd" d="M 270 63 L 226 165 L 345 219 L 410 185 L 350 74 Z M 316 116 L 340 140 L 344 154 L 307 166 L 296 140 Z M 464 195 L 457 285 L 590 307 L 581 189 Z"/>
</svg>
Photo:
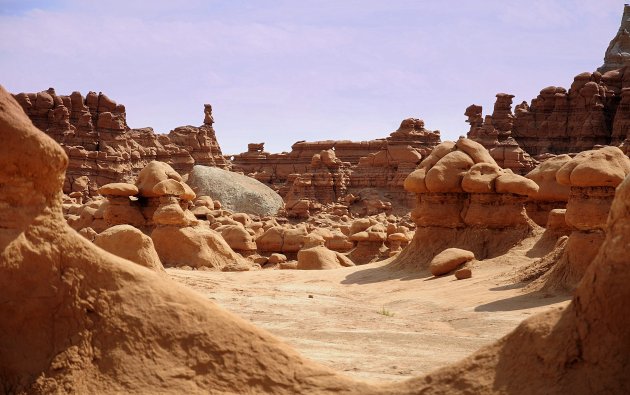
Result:
<svg viewBox="0 0 630 395">
<path fill-rule="evenodd" d="M 352 198 L 346 199 L 346 193 L 358 197 L 369 215 L 387 211 L 392 204 L 389 200 L 396 201 L 396 206 L 413 205 L 413 196 L 405 193 L 403 182 L 439 142 L 439 131 L 425 129 L 421 119 L 408 118 L 385 139 L 299 141 L 290 153 L 281 154 L 265 152 L 264 143 L 249 144 L 247 152 L 235 155 L 232 162 L 235 170 L 277 190 L 290 215 L 307 217 L 335 202 L 347 206 L 351 203 L 346 200 Z M 326 162 L 329 156 L 334 156 L 333 162 Z M 363 199 L 368 192 L 361 191 L 367 189 L 388 198 Z"/>
</svg>

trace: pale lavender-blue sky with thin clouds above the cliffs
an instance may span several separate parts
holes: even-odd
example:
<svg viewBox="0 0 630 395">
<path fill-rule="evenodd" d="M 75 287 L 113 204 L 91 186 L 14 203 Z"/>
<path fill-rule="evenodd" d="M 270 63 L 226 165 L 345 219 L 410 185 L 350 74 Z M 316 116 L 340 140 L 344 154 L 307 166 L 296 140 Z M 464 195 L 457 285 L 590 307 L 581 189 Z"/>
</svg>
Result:
<svg viewBox="0 0 630 395">
<path fill-rule="evenodd" d="M 442 139 L 495 95 L 531 101 L 594 71 L 613 0 L 0 0 L 0 84 L 103 92 L 132 128 L 201 125 L 224 153 L 370 140 L 404 118 Z"/>
</svg>

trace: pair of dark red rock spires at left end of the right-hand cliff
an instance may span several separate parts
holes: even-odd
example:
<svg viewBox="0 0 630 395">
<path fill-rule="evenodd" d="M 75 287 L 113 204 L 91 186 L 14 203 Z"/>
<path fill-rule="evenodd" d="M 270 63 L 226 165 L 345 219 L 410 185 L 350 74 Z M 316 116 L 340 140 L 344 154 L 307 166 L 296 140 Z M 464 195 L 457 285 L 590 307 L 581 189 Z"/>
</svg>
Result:
<svg viewBox="0 0 630 395">
<path fill-rule="evenodd" d="M 470 124 L 468 138 L 483 145 L 497 164 L 524 175 L 536 167 L 537 162 L 511 137 L 514 124 L 513 95 L 498 93 L 492 115 L 483 118 L 483 108 L 472 104 L 464 115 Z M 517 109 L 519 107 L 517 106 Z"/>
</svg>

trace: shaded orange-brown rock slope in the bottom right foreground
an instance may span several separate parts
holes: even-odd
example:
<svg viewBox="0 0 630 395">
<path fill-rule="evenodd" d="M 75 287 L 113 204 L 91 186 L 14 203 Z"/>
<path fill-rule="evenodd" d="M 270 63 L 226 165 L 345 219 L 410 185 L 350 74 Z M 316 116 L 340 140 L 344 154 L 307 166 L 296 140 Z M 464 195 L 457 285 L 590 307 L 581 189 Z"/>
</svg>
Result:
<svg viewBox="0 0 630 395">
<path fill-rule="evenodd" d="M 566 308 L 538 314 L 463 361 L 400 393 L 625 394 L 630 391 L 630 177 L 619 185 L 606 238 Z"/>
</svg>

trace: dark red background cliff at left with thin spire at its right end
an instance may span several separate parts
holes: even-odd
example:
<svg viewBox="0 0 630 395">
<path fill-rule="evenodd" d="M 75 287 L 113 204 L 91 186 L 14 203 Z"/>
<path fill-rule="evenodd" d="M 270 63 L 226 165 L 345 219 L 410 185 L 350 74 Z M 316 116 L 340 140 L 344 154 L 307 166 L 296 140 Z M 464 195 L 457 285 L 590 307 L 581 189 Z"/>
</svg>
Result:
<svg viewBox="0 0 630 395">
<path fill-rule="evenodd" d="M 182 126 L 168 135 L 151 128 L 130 129 L 125 106 L 102 93 L 57 95 L 50 88 L 14 95 L 32 122 L 62 145 L 70 158 L 64 192 L 92 195 L 99 186 L 132 182 L 150 161 L 184 174 L 194 164 L 228 167 L 212 128 L 211 107 L 204 124 Z"/>
</svg>

